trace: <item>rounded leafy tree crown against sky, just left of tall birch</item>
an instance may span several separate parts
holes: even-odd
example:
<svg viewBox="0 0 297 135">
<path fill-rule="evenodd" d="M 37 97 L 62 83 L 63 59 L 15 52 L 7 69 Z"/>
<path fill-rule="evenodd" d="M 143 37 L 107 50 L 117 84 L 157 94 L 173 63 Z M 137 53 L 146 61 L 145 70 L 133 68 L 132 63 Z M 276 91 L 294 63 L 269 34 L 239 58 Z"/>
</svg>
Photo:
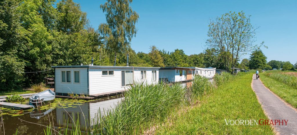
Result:
<svg viewBox="0 0 297 135">
<path fill-rule="evenodd" d="M 57 29 L 67 34 L 81 31 L 88 24 L 87 14 L 80 10 L 80 5 L 72 0 L 57 3 Z"/>
</svg>

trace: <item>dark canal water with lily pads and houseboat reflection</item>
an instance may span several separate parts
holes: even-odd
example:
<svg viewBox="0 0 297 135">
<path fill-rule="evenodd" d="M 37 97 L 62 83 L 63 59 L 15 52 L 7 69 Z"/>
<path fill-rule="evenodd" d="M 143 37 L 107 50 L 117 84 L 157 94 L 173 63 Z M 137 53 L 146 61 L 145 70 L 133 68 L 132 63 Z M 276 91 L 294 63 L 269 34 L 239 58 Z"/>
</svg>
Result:
<svg viewBox="0 0 297 135">
<path fill-rule="evenodd" d="M 12 135 L 18 130 L 18 135 L 41 135 L 44 134 L 45 126 L 51 124 L 55 130 L 61 130 L 64 125 L 70 125 L 73 121 L 78 121 L 80 128 L 85 129 L 92 126 L 92 120 L 97 117 L 99 109 L 104 114 L 107 109 L 115 108 L 121 99 L 122 95 L 90 101 L 56 98 L 50 105 L 38 109 L 23 111 L 0 108 L 0 119 L 3 121 L 0 132 Z"/>
</svg>

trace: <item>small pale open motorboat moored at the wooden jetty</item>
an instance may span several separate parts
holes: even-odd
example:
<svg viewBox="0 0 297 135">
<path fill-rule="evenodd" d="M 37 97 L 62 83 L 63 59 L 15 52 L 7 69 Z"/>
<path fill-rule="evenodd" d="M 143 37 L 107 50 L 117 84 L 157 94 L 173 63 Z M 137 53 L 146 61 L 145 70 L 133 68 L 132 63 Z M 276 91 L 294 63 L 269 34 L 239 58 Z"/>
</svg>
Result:
<svg viewBox="0 0 297 135">
<path fill-rule="evenodd" d="M 39 107 L 52 102 L 56 98 L 56 93 L 48 89 L 37 93 L 29 98 L 29 105 Z"/>
</svg>

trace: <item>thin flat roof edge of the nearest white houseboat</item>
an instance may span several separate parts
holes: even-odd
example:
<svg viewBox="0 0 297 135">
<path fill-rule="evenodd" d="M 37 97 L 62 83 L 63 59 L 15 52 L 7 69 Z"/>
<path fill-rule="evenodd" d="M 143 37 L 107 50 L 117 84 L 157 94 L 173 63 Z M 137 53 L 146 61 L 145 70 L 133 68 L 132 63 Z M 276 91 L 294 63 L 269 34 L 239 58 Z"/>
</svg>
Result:
<svg viewBox="0 0 297 135">
<path fill-rule="evenodd" d="M 52 68 L 154 68 L 160 69 L 160 67 L 127 67 L 127 66 L 91 66 L 91 65 L 82 65 L 82 66 L 51 66 Z"/>
</svg>

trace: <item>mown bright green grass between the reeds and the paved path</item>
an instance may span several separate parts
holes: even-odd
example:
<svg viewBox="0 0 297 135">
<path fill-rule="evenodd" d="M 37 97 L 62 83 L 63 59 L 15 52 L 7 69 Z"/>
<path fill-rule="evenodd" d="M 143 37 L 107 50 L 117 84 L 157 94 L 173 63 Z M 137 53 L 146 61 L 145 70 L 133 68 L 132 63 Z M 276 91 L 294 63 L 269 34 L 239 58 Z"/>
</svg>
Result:
<svg viewBox="0 0 297 135">
<path fill-rule="evenodd" d="M 237 76 L 220 85 L 200 104 L 181 115 L 172 123 L 158 128 L 157 134 L 274 134 L 266 125 L 226 125 L 225 119 L 267 119 L 251 88 L 252 73 Z"/>
</svg>

